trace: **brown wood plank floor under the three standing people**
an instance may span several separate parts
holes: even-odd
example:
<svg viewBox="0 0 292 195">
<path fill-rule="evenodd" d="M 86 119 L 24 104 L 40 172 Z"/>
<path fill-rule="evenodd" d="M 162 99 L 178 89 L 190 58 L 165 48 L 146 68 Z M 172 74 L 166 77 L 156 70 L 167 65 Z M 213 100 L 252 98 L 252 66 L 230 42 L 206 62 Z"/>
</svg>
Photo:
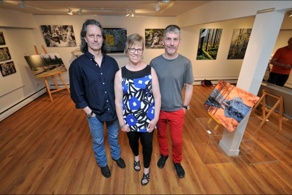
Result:
<svg viewBox="0 0 292 195">
<path fill-rule="evenodd" d="M 141 185 L 143 171 L 134 171 L 134 158 L 125 133 L 119 133 L 121 156 L 126 162 L 124 169 L 111 159 L 105 133 L 112 172 L 110 178 L 105 178 L 94 157 L 84 112 L 75 108 L 66 90 L 52 94 L 53 102 L 48 94 L 43 94 L 0 122 L 0 193 L 292 194 L 291 142 L 278 162 L 250 165 L 242 151 L 246 152 L 251 145 L 242 142 L 241 152 L 232 162 L 203 164 L 204 150 L 193 144 L 193 133 L 196 119 L 209 117 L 203 103 L 213 89 L 194 86 L 183 131 L 181 164 L 186 176 L 176 175 L 171 149 L 165 167 L 157 167 L 160 152 L 155 132 L 150 183 L 146 186 Z M 277 115 L 273 114 L 269 120 L 277 124 Z M 282 127 L 292 133 L 290 120 L 283 121 Z M 244 137 L 252 141 L 251 135 L 245 133 Z M 171 142 L 169 145 L 171 148 Z M 143 165 L 142 158 L 140 161 Z"/>
</svg>

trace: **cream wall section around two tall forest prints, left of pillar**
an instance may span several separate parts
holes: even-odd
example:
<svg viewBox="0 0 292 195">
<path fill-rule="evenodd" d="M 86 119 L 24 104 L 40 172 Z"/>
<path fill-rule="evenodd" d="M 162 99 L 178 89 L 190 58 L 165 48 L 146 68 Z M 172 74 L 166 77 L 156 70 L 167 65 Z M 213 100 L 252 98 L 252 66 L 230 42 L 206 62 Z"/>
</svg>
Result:
<svg viewBox="0 0 292 195">
<path fill-rule="evenodd" d="M 193 64 L 194 80 L 237 80 L 243 59 L 227 59 L 233 31 L 236 28 L 252 28 L 254 17 L 234 19 L 217 23 L 182 27 L 182 44 L 179 52 Z M 200 29 L 221 28 L 222 35 L 215 60 L 196 60 Z M 200 82 L 199 82 L 200 83 Z"/>
</svg>

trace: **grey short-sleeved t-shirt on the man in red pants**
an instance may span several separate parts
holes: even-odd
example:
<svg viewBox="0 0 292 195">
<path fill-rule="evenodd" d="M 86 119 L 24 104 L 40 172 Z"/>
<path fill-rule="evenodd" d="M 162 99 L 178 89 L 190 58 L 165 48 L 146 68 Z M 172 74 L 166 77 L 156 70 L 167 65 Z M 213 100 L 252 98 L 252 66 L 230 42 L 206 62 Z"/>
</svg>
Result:
<svg viewBox="0 0 292 195">
<path fill-rule="evenodd" d="M 158 76 L 161 110 L 172 112 L 182 109 L 182 87 L 185 83 L 193 83 L 192 62 L 182 55 L 168 60 L 162 55 L 152 59 L 150 66 Z"/>
</svg>

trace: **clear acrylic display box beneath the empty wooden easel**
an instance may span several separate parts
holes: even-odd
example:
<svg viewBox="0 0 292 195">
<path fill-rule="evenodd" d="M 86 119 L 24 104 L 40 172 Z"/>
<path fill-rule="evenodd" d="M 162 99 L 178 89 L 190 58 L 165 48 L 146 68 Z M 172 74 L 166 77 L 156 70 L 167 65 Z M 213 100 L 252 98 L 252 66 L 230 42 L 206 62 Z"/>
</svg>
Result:
<svg viewBox="0 0 292 195">
<path fill-rule="evenodd" d="M 262 122 L 257 117 L 250 117 L 240 144 L 239 156 L 250 165 L 278 162 L 282 158 L 292 134 L 271 121 L 266 121 L 256 132 Z"/>
</svg>

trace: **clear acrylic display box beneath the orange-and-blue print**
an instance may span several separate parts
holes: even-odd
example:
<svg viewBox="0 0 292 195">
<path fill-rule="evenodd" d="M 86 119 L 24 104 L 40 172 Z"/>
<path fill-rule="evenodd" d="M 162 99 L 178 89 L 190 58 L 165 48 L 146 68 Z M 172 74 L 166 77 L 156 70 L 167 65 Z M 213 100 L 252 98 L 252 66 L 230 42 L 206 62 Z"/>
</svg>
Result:
<svg viewBox="0 0 292 195">
<path fill-rule="evenodd" d="M 214 130 L 218 123 L 215 120 L 210 122 L 209 120 L 210 118 L 196 119 L 192 141 L 194 148 L 202 159 L 203 164 L 232 162 L 235 152 L 231 155 L 227 154 L 223 148 L 230 148 L 230 146 L 225 145 L 222 140 L 238 140 L 235 146 L 232 146 L 233 148 L 238 148 L 241 133 L 236 129 L 230 133 L 223 125 Z"/>
</svg>

